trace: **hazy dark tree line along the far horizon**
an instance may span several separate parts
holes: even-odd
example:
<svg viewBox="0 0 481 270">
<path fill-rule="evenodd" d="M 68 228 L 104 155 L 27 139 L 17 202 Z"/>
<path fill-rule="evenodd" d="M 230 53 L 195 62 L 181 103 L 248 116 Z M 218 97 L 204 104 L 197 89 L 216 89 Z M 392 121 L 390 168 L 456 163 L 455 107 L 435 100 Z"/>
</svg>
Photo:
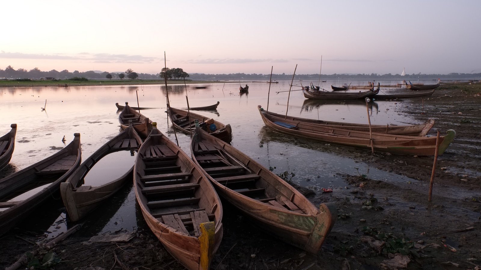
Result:
<svg viewBox="0 0 481 270">
<path fill-rule="evenodd" d="M 31 70 L 26 70 L 19 68 L 15 70 L 12 66 L 8 66 L 5 70 L 0 69 L 0 78 L 5 79 L 40 79 L 40 78 L 55 78 L 55 79 L 70 79 L 73 77 L 87 78 L 87 79 L 124 79 L 127 76 L 128 79 L 163 79 L 166 74 L 167 79 L 185 79 L 190 78 L 190 80 L 269 80 L 270 74 L 245 74 L 245 73 L 231 73 L 231 74 L 203 74 L 203 73 L 187 73 L 181 68 L 162 68 L 161 72 L 158 74 L 146 74 L 146 73 L 136 73 L 132 69 L 127 69 L 125 73 L 122 72 L 69 72 L 68 70 L 63 71 L 40 71 L 38 68 Z M 450 73 L 450 74 L 406 74 L 401 76 L 400 74 L 321 74 L 321 80 L 324 79 L 399 79 L 405 78 L 408 80 L 420 79 L 438 79 L 443 80 L 449 79 L 480 79 L 481 73 L 466 74 L 466 73 Z M 272 80 L 291 80 L 292 74 L 272 74 Z M 311 80 L 317 81 L 319 79 L 319 74 L 296 74 L 295 80 Z"/>
</svg>

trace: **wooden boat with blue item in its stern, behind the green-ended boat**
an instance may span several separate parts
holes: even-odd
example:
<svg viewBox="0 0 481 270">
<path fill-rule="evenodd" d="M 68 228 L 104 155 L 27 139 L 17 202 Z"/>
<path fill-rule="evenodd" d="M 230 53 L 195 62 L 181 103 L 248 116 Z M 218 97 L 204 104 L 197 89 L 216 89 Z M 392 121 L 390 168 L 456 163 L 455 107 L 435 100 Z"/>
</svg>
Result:
<svg viewBox="0 0 481 270">
<path fill-rule="evenodd" d="M 172 107 L 168 108 L 167 114 L 174 126 L 185 133 L 190 134 L 190 130 L 195 128 L 194 121 L 198 120 L 199 123 L 201 123 L 201 127 L 211 135 L 228 143 L 232 141 L 232 128 L 230 124 L 225 125 L 212 118 Z"/>
</svg>

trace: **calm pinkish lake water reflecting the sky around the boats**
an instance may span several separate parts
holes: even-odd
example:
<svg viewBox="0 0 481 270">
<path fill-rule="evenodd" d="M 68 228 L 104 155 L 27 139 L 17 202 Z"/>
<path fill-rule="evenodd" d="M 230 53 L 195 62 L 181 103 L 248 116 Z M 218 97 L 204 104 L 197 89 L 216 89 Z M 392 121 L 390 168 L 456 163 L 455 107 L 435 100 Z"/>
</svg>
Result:
<svg viewBox="0 0 481 270">
<path fill-rule="evenodd" d="M 301 83 L 307 85 L 309 82 L 294 81 L 294 85 L 300 86 Z M 394 83 L 399 82 L 381 82 Z M 245 84 L 242 82 L 242 86 Z M 340 86 L 342 82 L 328 81 L 321 83 L 321 87 L 330 89 L 331 84 Z M 344 187 L 346 184 L 343 177 L 339 176 L 344 173 L 357 175 L 359 172 L 368 174 L 373 179 L 388 181 L 414 181 L 370 168 L 364 163 L 370 159 L 381 158 L 381 154 L 371 155 L 366 150 L 274 133 L 265 127 L 257 110 L 257 105 L 261 105 L 280 114 L 285 114 L 287 110 L 288 114 L 293 116 L 353 123 L 367 123 L 369 114 L 372 124 L 416 124 L 409 116 L 397 110 L 407 106 L 407 102 L 374 100 L 366 106 L 364 100 L 313 101 L 304 98 L 302 91 L 298 91 L 300 87 L 293 86 L 291 90 L 297 91 L 291 91 L 290 95 L 288 92 L 280 92 L 289 90 L 289 81 L 270 86 L 267 104 L 269 84 L 257 82 L 248 85 L 249 93 L 244 95 L 239 93 L 238 82 L 210 84 L 206 85 L 206 89 L 195 89 L 187 85 L 189 104 L 190 107 L 200 107 L 220 101 L 216 111 L 197 113 L 221 123 L 230 123 L 234 136 L 232 145 L 267 168 L 276 167 L 275 173 L 294 172 L 294 182 L 314 189 Z M 367 85 L 367 82 L 353 82 L 352 85 Z M 184 85 L 168 86 L 168 93 L 172 107 L 187 107 Z M 140 107 L 156 108 L 142 110 L 141 113 L 157 122 L 159 130 L 171 140 L 175 140 L 177 135 L 180 147 L 188 152 L 190 136 L 178 131 L 174 134 L 167 121 L 165 86 L 9 87 L 1 88 L 0 93 L 0 110 L 2 115 L 7 116 L 0 120 L 1 134 L 10 130 L 11 123 L 17 123 L 18 126 L 9 169 L 18 171 L 45 159 L 64 147 L 63 136 L 68 144 L 76 132 L 81 134 L 83 160 L 87 159 L 97 148 L 120 132 L 119 111 L 115 103 L 124 105 L 128 101 L 130 106 L 137 107 L 137 97 Z M 42 110 L 43 107 L 46 110 Z M 122 160 L 131 162 L 129 154 L 127 152 Z M 1 175 L 3 176 L 5 175 Z M 45 227 L 42 229 L 60 232 L 72 224 L 67 224 L 65 213 L 61 210 L 61 200 L 59 203 L 58 198 L 54 199 L 57 200 L 51 203 L 51 209 L 42 209 L 54 213 L 50 220 L 43 221 Z M 42 217 L 47 219 L 47 215 Z M 83 221 L 87 226 L 84 226 L 82 231 L 87 234 L 121 228 L 132 231 L 138 224 L 143 226 L 141 219 L 141 215 L 136 213 L 135 194 L 132 184 L 129 183 L 113 199 L 106 201 Z"/>
</svg>

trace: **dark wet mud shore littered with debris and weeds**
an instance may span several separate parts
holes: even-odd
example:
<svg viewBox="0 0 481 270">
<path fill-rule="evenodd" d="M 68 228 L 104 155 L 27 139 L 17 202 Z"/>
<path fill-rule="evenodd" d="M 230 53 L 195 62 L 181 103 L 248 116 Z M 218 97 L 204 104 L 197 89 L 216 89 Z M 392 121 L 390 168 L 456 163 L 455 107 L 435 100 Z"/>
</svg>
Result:
<svg viewBox="0 0 481 270">
<path fill-rule="evenodd" d="M 333 192 L 303 188 L 315 205 L 335 202 L 338 209 L 316 255 L 271 238 L 226 204 L 224 237 L 211 269 L 480 269 L 481 84 L 440 86 L 429 98 L 392 102 L 419 123 L 434 118 L 430 136 L 437 129 L 441 135 L 456 130 L 455 140 L 437 160 L 431 202 L 433 157 L 355 154 L 356 160 L 411 180 L 342 174 L 345 186 Z M 90 237 L 74 233 L 35 258 L 41 261 L 53 253 L 62 260 L 52 263 L 57 270 L 183 269 L 148 227 L 139 226 L 132 236 L 126 242 L 89 242 Z M 32 243 L 42 237 L 21 229 L 0 236 L 0 268 L 38 248 Z"/>
</svg>

